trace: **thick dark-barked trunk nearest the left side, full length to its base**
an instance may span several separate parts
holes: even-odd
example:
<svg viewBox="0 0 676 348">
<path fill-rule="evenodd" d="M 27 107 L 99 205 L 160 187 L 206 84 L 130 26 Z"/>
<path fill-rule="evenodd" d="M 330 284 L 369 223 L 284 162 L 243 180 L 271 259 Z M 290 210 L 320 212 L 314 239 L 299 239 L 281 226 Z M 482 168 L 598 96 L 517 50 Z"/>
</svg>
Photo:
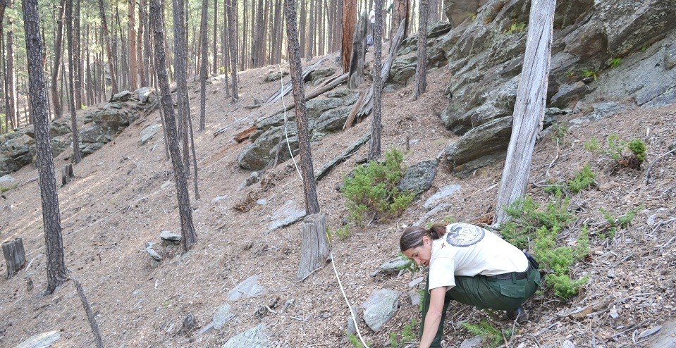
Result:
<svg viewBox="0 0 676 348">
<path fill-rule="evenodd" d="M 51 157 L 49 139 L 49 115 L 47 115 L 47 81 L 42 71 L 42 39 L 39 36 L 39 15 L 37 0 L 23 1 L 23 23 L 26 37 L 28 78 L 30 81 L 31 109 L 35 112 L 35 147 L 37 152 L 37 174 L 40 198 L 42 200 L 42 225 L 44 245 L 47 254 L 47 289 L 51 294 L 56 287 L 68 279 L 66 263 L 63 261 L 63 240 L 61 237 L 61 215 L 59 196 L 56 194 L 54 160 Z"/>
</svg>

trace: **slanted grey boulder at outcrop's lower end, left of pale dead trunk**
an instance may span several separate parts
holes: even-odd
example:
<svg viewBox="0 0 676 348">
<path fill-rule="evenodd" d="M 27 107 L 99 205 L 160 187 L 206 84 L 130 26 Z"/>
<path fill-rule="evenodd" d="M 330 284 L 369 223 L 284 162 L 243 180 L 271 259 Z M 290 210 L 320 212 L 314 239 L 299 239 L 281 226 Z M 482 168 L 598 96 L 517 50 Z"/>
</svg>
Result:
<svg viewBox="0 0 676 348">
<path fill-rule="evenodd" d="M 478 128 L 473 128 L 457 142 L 445 148 L 445 161 L 456 168 L 469 161 L 506 151 L 511 134 L 511 117 L 498 118 Z"/>
</svg>

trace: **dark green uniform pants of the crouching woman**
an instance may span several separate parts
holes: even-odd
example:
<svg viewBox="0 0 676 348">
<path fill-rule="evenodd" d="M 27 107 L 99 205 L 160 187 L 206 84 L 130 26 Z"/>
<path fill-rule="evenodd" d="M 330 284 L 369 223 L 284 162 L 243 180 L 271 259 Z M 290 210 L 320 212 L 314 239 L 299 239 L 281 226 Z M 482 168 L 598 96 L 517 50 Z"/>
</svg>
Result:
<svg viewBox="0 0 676 348">
<path fill-rule="evenodd" d="M 436 330 L 436 336 L 432 341 L 432 348 L 441 347 L 441 337 L 443 336 L 443 323 L 446 319 L 446 310 L 450 300 L 455 300 L 461 304 L 469 304 L 479 309 L 498 309 L 508 311 L 519 308 L 526 299 L 533 296 L 540 284 L 540 273 L 536 269 L 529 267 L 527 278 L 525 279 L 489 279 L 484 275 L 475 275 L 474 277 L 455 276 L 455 287 L 446 292 L 443 301 L 443 310 L 441 311 L 441 321 Z M 429 288 L 429 273 L 427 275 L 427 285 Z M 429 311 L 429 292 L 425 292 L 422 304 L 422 322 L 420 323 L 419 337 L 422 337 L 422 331 L 425 326 L 425 317 Z"/>
</svg>

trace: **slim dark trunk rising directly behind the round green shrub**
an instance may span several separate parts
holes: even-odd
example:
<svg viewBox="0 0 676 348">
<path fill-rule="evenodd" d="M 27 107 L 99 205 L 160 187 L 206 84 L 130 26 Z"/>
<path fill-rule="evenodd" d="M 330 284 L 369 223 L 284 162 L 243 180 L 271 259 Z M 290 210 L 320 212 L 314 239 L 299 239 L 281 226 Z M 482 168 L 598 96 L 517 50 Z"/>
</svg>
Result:
<svg viewBox="0 0 676 348">
<path fill-rule="evenodd" d="M 369 147 L 369 161 L 381 156 L 381 116 L 383 105 L 383 0 L 376 0 L 376 24 L 374 25 L 374 58 L 373 58 L 373 120 L 371 124 L 371 146 Z"/>
</svg>

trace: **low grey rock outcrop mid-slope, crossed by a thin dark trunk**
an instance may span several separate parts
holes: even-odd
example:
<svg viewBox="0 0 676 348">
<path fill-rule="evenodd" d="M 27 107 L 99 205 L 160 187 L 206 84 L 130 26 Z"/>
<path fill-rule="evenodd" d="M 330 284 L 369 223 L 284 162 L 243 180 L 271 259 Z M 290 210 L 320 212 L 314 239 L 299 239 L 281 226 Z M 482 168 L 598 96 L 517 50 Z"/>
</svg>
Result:
<svg viewBox="0 0 676 348">
<path fill-rule="evenodd" d="M 307 101 L 307 122 L 310 139 L 317 141 L 327 133 L 343 129 L 345 121 L 350 116 L 352 104 L 357 101 L 358 94 L 349 89 L 332 92 L 326 98 L 316 98 Z M 284 120 L 287 120 L 284 126 Z M 251 144 L 247 144 L 238 158 L 241 168 L 248 170 L 262 170 L 272 162 L 279 149 L 278 163 L 291 158 L 289 147 L 296 156 L 298 151 L 298 137 L 295 122 L 295 113 L 276 113 L 273 116 L 261 118 L 255 123 L 256 131 L 250 135 Z M 279 142 L 280 137 L 284 138 Z M 288 144 L 286 138 L 288 137 Z"/>
</svg>

